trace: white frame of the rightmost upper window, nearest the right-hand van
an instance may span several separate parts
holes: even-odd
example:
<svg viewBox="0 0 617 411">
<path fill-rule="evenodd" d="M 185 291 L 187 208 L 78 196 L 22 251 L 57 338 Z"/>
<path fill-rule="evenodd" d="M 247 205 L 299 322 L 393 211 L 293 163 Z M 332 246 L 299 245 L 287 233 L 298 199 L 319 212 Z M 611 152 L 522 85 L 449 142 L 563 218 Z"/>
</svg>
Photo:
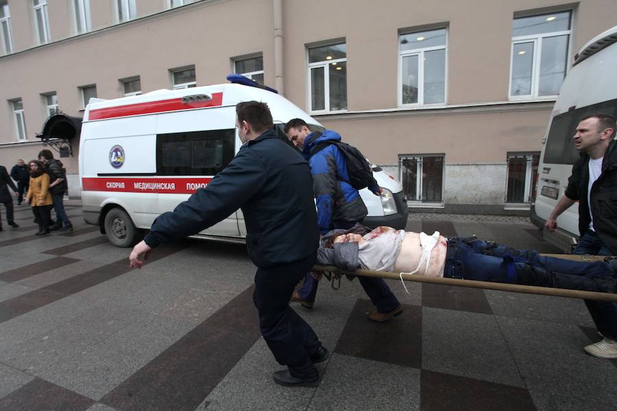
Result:
<svg viewBox="0 0 617 411">
<path fill-rule="evenodd" d="M 570 12 L 570 29 L 561 30 L 561 32 L 548 32 L 542 34 L 530 34 L 529 36 L 516 36 L 511 40 L 510 45 L 510 75 L 508 80 L 508 99 L 509 101 L 520 101 L 520 100 L 535 100 L 535 99 L 557 99 L 557 95 L 542 95 L 539 96 L 538 89 L 540 88 L 540 63 L 542 58 L 542 42 L 544 38 L 549 37 L 558 37 L 568 35 L 568 51 L 566 54 L 566 75 L 568 75 L 568 71 L 570 71 L 570 53 L 572 53 L 572 23 L 574 19 L 574 13 L 572 10 L 561 10 L 555 13 L 562 12 Z M 544 15 L 544 14 L 537 14 Z M 526 17 L 534 17 L 537 15 L 531 15 Z M 533 61 L 531 63 L 531 94 L 522 95 L 522 96 L 513 96 L 510 93 L 512 92 L 512 69 L 514 62 L 514 45 L 525 43 L 525 42 L 533 42 Z"/>
</svg>

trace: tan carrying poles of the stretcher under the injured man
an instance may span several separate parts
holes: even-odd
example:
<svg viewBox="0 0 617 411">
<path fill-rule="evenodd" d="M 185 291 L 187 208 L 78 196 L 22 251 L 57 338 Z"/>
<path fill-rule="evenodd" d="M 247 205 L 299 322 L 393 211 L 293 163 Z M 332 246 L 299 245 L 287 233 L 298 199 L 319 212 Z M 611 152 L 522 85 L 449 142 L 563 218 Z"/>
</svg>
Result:
<svg viewBox="0 0 617 411">
<path fill-rule="evenodd" d="M 577 256 L 573 254 L 542 254 L 544 257 L 562 258 L 564 260 L 574 260 L 581 262 L 603 261 L 606 256 Z M 568 290 L 565 288 L 548 288 L 539 286 L 523 286 L 520 284 L 507 284 L 496 282 L 484 282 L 475 281 L 472 279 L 457 279 L 457 278 L 442 278 L 442 277 L 426 277 L 424 275 L 416 274 L 400 274 L 392 273 L 390 271 L 371 271 L 356 269 L 356 271 L 343 271 L 336 266 L 323 266 L 315 264 L 313 271 L 324 273 L 330 273 L 326 275 L 328 279 L 332 281 L 332 288 L 338 289 L 335 284 L 340 284 L 341 275 L 363 275 L 365 277 L 377 277 L 383 279 L 396 279 L 400 281 L 409 282 L 421 282 L 429 284 L 441 284 L 445 286 L 459 286 L 469 288 L 483 288 L 485 290 L 498 290 L 509 292 L 523 292 L 526 294 L 537 295 L 553 295 L 555 297 L 569 297 L 578 299 L 590 299 L 595 301 L 614 301 L 617 302 L 617 294 L 610 294 L 608 292 L 593 292 L 593 291 L 581 291 L 581 290 Z"/>
</svg>

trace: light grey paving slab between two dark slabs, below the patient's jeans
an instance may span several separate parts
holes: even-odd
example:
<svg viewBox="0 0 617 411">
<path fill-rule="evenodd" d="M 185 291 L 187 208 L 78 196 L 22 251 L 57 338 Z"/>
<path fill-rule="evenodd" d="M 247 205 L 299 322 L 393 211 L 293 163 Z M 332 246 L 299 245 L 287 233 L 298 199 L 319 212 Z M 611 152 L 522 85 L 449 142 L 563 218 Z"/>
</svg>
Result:
<svg viewBox="0 0 617 411">
<path fill-rule="evenodd" d="M 422 308 L 422 369 L 524 387 L 498 324 L 488 314 Z"/>
</svg>

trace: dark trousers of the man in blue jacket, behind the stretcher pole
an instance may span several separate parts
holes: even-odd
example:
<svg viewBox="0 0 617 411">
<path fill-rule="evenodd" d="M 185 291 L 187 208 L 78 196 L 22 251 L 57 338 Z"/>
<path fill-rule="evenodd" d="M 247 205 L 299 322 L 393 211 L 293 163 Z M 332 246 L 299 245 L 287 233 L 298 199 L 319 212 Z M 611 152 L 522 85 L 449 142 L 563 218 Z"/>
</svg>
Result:
<svg viewBox="0 0 617 411">
<path fill-rule="evenodd" d="M 350 229 L 355 224 L 356 221 L 332 220 L 330 228 Z M 378 312 L 385 314 L 400 306 L 400 302 L 383 279 L 362 277 L 361 275 L 358 276 L 358 279 L 362 288 L 364 288 L 364 292 L 366 292 L 366 295 L 371 299 L 371 302 L 377 308 Z M 317 286 L 319 286 L 319 282 L 313 278 L 311 273 L 308 273 L 306 274 L 302 288 L 298 290 L 298 295 L 300 295 L 302 299 L 313 302 L 317 295 Z"/>
</svg>

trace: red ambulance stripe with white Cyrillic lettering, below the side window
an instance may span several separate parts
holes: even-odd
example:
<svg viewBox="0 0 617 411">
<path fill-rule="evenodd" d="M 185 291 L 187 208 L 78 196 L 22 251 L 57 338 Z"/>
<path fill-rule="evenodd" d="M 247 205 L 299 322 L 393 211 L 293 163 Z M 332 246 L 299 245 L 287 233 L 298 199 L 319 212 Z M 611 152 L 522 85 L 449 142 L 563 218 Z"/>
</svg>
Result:
<svg viewBox="0 0 617 411">
<path fill-rule="evenodd" d="M 212 180 L 205 178 L 109 178 L 83 177 L 82 190 L 84 191 L 113 191 L 113 192 L 153 192 L 159 194 L 193 194 L 198 188 L 205 188 Z"/>
</svg>

